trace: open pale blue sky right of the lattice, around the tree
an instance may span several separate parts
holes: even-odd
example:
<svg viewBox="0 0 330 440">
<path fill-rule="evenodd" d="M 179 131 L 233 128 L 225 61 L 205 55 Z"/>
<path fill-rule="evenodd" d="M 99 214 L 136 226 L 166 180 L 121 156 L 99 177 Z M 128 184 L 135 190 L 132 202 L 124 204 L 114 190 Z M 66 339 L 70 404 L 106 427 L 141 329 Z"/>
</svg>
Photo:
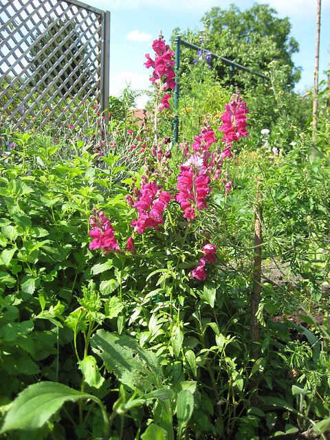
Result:
<svg viewBox="0 0 330 440">
<path fill-rule="evenodd" d="M 234 3 L 241 10 L 250 8 L 253 0 L 85 0 L 101 10 L 111 12 L 110 35 L 110 94 L 119 96 L 127 83 L 132 89 L 148 89 L 151 72 L 144 67 L 145 54 L 153 56 L 151 43 L 162 30 L 169 41 L 175 28 L 203 29 L 201 17 L 212 6 L 222 9 Z M 305 91 L 314 81 L 317 0 L 259 0 L 277 10 L 278 17 L 289 17 L 292 36 L 298 41 L 300 51 L 294 54 L 296 66 L 303 67 L 302 78 L 296 90 Z M 329 69 L 330 0 L 322 0 L 320 36 L 320 79 Z M 137 100 L 143 107 L 145 98 Z"/>
</svg>

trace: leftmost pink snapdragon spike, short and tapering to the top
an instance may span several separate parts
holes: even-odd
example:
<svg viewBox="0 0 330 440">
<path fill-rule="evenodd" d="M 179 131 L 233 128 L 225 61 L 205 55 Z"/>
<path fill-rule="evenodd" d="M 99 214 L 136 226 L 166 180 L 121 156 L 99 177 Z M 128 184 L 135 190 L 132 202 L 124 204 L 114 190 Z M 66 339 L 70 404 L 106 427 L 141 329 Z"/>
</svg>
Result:
<svg viewBox="0 0 330 440">
<path fill-rule="evenodd" d="M 89 224 L 91 229 L 89 230 L 89 235 L 93 241 L 89 244 L 89 249 L 103 249 L 104 254 L 107 252 L 119 252 L 117 240 L 113 232 L 113 226 L 111 225 L 108 217 L 104 215 L 103 211 L 96 211 L 94 208 L 94 213 L 96 215 L 91 215 L 89 217 Z"/>
</svg>

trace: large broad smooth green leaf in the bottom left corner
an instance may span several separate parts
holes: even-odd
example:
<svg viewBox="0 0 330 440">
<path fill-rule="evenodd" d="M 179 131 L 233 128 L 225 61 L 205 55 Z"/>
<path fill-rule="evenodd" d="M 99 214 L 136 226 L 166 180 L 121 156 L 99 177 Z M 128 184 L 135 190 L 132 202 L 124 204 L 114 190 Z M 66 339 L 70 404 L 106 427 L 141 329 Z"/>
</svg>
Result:
<svg viewBox="0 0 330 440">
<path fill-rule="evenodd" d="M 56 382 L 39 382 L 19 393 L 5 415 L 0 433 L 12 429 L 35 430 L 41 428 L 61 408 L 65 401 L 90 399 L 93 396 L 80 393 Z"/>
</svg>

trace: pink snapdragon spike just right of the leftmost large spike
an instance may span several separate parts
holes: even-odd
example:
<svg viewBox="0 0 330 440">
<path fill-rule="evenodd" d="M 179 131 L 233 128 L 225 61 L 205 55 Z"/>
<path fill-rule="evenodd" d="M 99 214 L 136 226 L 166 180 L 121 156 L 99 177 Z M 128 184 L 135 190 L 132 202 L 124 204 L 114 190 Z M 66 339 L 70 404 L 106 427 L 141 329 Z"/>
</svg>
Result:
<svg viewBox="0 0 330 440">
<path fill-rule="evenodd" d="M 162 188 L 157 186 L 155 180 L 149 183 L 146 179 L 142 179 L 142 182 L 139 197 L 135 198 L 136 201 L 132 205 L 137 210 L 138 218 L 133 219 L 131 223 L 134 232 L 140 232 L 140 234 L 148 228 L 159 230 L 159 225 L 164 224 L 162 213 L 172 198 L 167 191 L 162 191 Z"/>
</svg>

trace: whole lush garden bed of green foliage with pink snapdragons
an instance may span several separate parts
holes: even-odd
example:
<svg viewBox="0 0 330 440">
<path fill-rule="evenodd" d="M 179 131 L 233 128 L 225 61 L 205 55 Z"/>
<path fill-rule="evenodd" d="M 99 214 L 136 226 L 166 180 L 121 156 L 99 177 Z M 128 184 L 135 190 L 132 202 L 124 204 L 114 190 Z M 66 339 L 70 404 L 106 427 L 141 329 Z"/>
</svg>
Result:
<svg viewBox="0 0 330 440">
<path fill-rule="evenodd" d="M 173 144 L 153 50 L 146 124 L 1 122 L 0 436 L 327 439 L 329 109 L 254 129 L 201 59 Z"/>
</svg>

